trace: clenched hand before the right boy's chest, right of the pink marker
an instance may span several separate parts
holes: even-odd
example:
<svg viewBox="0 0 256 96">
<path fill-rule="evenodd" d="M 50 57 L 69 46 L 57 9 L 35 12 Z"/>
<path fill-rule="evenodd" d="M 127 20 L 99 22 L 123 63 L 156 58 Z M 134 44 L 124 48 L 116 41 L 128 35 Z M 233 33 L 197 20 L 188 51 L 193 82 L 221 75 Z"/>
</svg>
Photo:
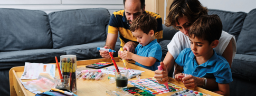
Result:
<svg viewBox="0 0 256 96">
<path fill-rule="evenodd" d="M 176 75 L 175 75 L 176 76 Z M 182 78 L 183 84 L 187 89 L 195 88 L 198 84 L 198 77 L 193 75 L 187 75 L 184 78 Z"/>
</svg>

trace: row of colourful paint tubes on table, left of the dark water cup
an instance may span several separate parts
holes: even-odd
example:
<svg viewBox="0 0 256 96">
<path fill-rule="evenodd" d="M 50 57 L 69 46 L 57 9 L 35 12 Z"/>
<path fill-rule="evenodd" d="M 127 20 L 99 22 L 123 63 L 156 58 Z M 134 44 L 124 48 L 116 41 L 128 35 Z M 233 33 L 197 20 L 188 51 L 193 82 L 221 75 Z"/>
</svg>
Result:
<svg viewBox="0 0 256 96">
<path fill-rule="evenodd" d="M 82 70 L 81 73 L 82 73 L 82 78 L 84 80 L 102 80 L 106 76 L 108 76 L 108 74 L 102 73 L 101 69 L 98 69 L 98 70 Z"/>
</svg>

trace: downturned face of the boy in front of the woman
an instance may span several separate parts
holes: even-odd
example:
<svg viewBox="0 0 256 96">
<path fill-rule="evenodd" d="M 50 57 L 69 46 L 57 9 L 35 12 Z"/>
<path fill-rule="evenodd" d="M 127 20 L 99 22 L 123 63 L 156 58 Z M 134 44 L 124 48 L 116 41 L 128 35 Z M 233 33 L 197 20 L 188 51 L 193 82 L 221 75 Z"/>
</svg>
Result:
<svg viewBox="0 0 256 96">
<path fill-rule="evenodd" d="M 193 36 L 192 36 L 193 37 Z M 197 37 L 192 39 L 189 37 L 190 47 L 195 56 L 207 56 L 208 53 L 213 51 L 213 45 L 209 44 L 206 40 L 198 40 Z"/>
</svg>

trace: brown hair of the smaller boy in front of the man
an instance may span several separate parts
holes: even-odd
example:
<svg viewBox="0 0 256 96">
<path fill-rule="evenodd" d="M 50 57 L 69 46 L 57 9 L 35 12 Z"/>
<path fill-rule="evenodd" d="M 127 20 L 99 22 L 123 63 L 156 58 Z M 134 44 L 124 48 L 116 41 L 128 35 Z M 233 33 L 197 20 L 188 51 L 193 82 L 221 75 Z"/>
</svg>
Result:
<svg viewBox="0 0 256 96">
<path fill-rule="evenodd" d="M 150 16 L 149 14 L 142 14 L 139 17 L 135 18 L 135 20 L 133 20 L 131 23 L 130 31 L 134 32 L 138 29 L 146 34 L 148 34 L 150 30 L 153 30 L 155 34 L 157 29 L 156 18 Z"/>
</svg>

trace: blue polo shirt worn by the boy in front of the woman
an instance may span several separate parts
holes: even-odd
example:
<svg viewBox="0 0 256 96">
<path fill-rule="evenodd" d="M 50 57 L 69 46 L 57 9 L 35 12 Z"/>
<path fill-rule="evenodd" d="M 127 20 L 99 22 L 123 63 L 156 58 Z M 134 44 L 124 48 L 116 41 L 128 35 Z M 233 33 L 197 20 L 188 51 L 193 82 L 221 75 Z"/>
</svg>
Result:
<svg viewBox="0 0 256 96">
<path fill-rule="evenodd" d="M 200 78 L 216 78 L 217 83 L 230 83 L 233 81 L 231 69 L 226 59 L 214 51 L 207 62 L 198 65 L 195 55 L 190 48 L 184 49 L 175 62 L 183 67 L 183 72 Z"/>
</svg>

